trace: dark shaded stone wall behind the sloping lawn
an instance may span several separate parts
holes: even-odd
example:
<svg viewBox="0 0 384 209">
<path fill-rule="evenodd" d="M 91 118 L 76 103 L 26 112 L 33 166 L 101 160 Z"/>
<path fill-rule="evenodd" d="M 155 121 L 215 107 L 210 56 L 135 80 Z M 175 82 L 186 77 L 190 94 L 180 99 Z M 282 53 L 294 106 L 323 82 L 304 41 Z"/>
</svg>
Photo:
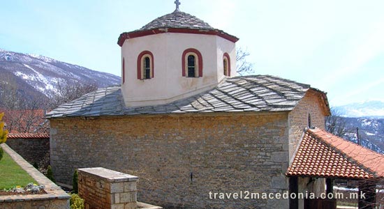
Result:
<svg viewBox="0 0 384 209">
<path fill-rule="evenodd" d="M 50 138 L 45 139 L 7 139 L 6 144 L 30 164 L 47 168 L 50 164 Z"/>
</svg>

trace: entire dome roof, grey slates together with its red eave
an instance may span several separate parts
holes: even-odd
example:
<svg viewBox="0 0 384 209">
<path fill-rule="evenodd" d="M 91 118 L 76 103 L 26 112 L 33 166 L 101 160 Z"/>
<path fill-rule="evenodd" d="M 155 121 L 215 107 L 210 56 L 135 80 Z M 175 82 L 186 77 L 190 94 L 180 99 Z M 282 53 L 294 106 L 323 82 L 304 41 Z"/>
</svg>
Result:
<svg viewBox="0 0 384 209">
<path fill-rule="evenodd" d="M 179 9 L 176 9 L 173 13 L 163 15 L 161 17 L 152 20 L 141 29 L 121 33 L 117 44 L 121 47 L 124 44 L 124 40 L 128 38 L 137 38 L 141 36 L 149 36 L 157 33 L 193 33 L 193 34 L 208 34 L 221 36 L 232 42 L 237 42 L 239 38 L 232 36 L 219 29 L 214 29 L 198 17 L 183 13 Z"/>
</svg>

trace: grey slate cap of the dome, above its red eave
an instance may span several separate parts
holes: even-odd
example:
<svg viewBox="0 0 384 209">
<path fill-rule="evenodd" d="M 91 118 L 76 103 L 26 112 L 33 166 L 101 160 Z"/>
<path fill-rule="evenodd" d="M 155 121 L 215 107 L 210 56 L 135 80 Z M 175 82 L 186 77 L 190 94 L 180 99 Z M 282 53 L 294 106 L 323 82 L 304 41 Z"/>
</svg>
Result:
<svg viewBox="0 0 384 209">
<path fill-rule="evenodd" d="M 183 13 L 180 10 L 175 10 L 175 12 L 163 15 L 156 18 L 149 24 L 142 26 L 139 31 L 147 31 L 152 29 L 161 29 L 161 28 L 176 28 L 176 29 L 205 29 L 213 30 L 212 26 L 206 22 L 198 19 L 193 15 L 188 13 Z"/>
</svg>

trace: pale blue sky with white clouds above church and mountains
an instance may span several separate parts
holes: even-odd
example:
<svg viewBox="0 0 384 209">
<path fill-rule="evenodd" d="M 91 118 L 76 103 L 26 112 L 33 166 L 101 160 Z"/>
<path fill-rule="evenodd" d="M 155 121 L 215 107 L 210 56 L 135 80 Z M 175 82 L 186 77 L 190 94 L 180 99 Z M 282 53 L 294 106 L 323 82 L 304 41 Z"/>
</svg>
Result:
<svg viewBox="0 0 384 209">
<path fill-rule="evenodd" d="M 310 84 L 331 107 L 384 101 L 383 0 L 180 2 L 237 36 L 256 75 Z M 120 76 L 120 33 L 173 10 L 174 0 L 0 0 L 0 48 Z"/>
</svg>

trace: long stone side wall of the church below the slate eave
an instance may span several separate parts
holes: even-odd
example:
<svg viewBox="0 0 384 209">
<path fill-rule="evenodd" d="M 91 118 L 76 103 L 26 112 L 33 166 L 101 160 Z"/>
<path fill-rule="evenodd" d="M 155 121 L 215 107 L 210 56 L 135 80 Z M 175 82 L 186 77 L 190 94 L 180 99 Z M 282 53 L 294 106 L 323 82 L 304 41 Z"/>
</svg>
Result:
<svg viewBox="0 0 384 209">
<path fill-rule="evenodd" d="M 165 208 L 288 208 L 288 200 L 209 196 L 288 189 L 286 112 L 60 118 L 50 125 L 59 183 L 71 184 L 77 168 L 105 167 L 140 176 L 138 200 Z"/>
</svg>

